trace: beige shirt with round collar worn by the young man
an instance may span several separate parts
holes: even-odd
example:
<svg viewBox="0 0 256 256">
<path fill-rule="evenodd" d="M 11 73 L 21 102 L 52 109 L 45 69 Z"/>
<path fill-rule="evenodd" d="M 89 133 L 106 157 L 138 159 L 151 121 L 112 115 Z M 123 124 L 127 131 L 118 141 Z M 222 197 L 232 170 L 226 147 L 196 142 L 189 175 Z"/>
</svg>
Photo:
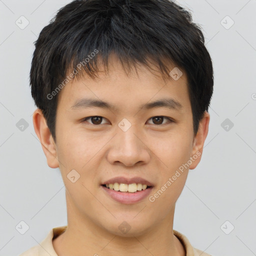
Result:
<svg viewBox="0 0 256 256">
<path fill-rule="evenodd" d="M 30 249 L 24 251 L 19 256 L 58 256 L 52 245 L 52 238 L 56 238 L 62 232 L 64 232 L 66 226 L 53 227 L 47 236 Z M 173 230 L 173 234 L 181 241 L 186 251 L 186 256 L 211 256 L 201 250 L 193 248 L 188 239 L 180 232 Z"/>
</svg>

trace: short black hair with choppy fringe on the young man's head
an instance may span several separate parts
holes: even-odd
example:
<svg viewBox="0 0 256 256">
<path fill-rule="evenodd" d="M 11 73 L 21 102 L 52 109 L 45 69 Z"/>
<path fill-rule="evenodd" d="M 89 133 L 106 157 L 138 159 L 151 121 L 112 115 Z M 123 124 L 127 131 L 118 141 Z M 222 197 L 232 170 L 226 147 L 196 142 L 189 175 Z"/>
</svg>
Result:
<svg viewBox="0 0 256 256">
<path fill-rule="evenodd" d="M 81 73 L 96 78 L 99 60 L 107 70 L 111 53 L 123 67 L 154 63 L 163 79 L 170 78 L 168 63 L 184 70 L 194 134 L 208 111 L 213 68 L 204 36 L 190 12 L 172 0 L 74 0 L 57 11 L 34 44 L 31 94 L 54 141 L 58 91 Z"/>
</svg>

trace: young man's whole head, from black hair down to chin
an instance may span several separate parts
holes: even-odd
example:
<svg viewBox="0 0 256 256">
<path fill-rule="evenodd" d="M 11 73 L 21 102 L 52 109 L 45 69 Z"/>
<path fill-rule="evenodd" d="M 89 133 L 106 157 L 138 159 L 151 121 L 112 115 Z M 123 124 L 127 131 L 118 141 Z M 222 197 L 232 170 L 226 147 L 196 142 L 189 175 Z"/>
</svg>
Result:
<svg viewBox="0 0 256 256">
<path fill-rule="evenodd" d="M 137 234 L 173 213 L 201 158 L 213 91 L 211 58 L 187 10 L 169 0 L 72 1 L 40 32 L 30 84 L 36 134 L 77 215 L 116 234 L 126 221 Z M 102 190 L 116 176 L 147 179 L 151 192 L 117 202 Z"/>
</svg>

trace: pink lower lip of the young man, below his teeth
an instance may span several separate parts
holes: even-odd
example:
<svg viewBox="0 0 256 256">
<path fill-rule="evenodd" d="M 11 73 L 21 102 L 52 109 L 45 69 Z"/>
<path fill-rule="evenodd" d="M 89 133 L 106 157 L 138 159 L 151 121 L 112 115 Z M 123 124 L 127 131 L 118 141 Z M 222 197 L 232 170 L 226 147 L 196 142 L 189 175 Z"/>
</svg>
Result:
<svg viewBox="0 0 256 256">
<path fill-rule="evenodd" d="M 140 200 L 144 199 L 146 196 L 148 196 L 152 190 L 152 186 L 140 191 L 136 192 L 121 192 L 121 191 L 115 191 L 113 189 L 109 189 L 105 186 L 101 187 L 106 191 L 106 193 L 113 198 L 114 200 L 125 203 L 125 204 L 131 204 L 131 203 L 136 203 L 139 202 Z"/>
</svg>

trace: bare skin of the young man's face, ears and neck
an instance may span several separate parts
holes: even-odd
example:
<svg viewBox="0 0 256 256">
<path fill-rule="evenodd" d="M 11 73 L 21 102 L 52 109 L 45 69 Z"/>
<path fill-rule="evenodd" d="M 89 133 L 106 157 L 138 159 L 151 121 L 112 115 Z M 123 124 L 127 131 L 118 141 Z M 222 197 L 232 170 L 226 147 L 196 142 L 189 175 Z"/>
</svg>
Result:
<svg viewBox="0 0 256 256">
<path fill-rule="evenodd" d="M 86 76 L 75 79 L 59 92 L 56 143 L 41 110 L 34 111 L 34 130 L 47 164 L 59 167 L 66 188 L 67 229 L 53 239 L 59 256 L 119 256 L 120 252 L 129 256 L 185 255 L 172 231 L 174 208 L 188 169 L 196 167 L 201 154 L 155 201 L 148 197 L 189 157 L 202 153 L 209 114 L 205 111 L 194 136 L 186 81 L 185 72 L 178 80 L 164 81 L 142 65 L 137 65 L 137 74 L 132 69 L 127 75 L 112 55 L 107 75 L 99 72 L 96 80 Z M 118 110 L 72 110 L 75 100 L 81 97 L 107 101 Z M 160 98 L 174 98 L 182 108 L 139 109 L 140 104 Z M 95 115 L 104 117 L 101 124 L 93 124 L 97 122 L 89 118 L 82 120 Z M 157 124 L 151 118 L 154 116 L 167 116 L 174 121 L 164 118 Z M 125 132 L 118 127 L 123 118 L 131 123 Z M 67 178 L 72 169 L 80 175 L 74 183 Z M 154 184 L 153 190 L 138 203 L 117 202 L 102 191 L 100 184 L 119 175 L 143 177 Z M 131 227 L 125 234 L 118 228 L 123 221 Z"/>
</svg>

